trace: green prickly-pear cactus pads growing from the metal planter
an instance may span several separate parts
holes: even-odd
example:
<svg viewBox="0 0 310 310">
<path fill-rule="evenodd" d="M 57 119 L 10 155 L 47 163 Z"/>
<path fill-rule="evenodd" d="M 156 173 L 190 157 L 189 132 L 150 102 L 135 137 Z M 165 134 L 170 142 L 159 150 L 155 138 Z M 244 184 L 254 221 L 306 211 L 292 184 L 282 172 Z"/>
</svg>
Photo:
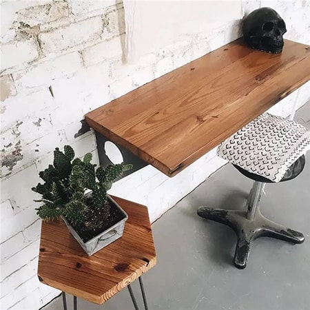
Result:
<svg viewBox="0 0 310 310">
<path fill-rule="evenodd" d="M 39 172 L 44 183 L 32 190 L 42 196 L 34 201 L 42 203 L 37 214 L 43 220 L 65 216 L 72 225 L 81 225 L 87 215 L 107 212 L 107 191 L 123 172 L 132 168 L 123 163 L 96 167 L 91 163 L 91 153 L 85 154 L 83 161 L 74 156 L 70 145 L 65 145 L 64 152 L 56 147 L 53 165 Z M 86 192 L 91 194 L 85 195 Z"/>
</svg>

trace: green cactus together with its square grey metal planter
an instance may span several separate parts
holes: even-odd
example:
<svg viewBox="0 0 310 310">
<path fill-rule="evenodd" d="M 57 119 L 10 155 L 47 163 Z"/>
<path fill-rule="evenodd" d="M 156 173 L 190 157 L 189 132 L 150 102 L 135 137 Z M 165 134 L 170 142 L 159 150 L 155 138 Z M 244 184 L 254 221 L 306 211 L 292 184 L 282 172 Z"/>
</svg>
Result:
<svg viewBox="0 0 310 310">
<path fill-rule="evenodd" d="M 113 182 L 132 168 L 116 164 L 103 168 L 92 164 L 92 154 L 74 158 L 74 150 L 54 150 L 54 163 L 39 172 L 44 181 L 34 192 L 41 194 L 37 214 L 43 220 L 62 218 L 86 253 L 91 256 L 123 234 L 127 214 L 107 195 Z"/>
</svg>

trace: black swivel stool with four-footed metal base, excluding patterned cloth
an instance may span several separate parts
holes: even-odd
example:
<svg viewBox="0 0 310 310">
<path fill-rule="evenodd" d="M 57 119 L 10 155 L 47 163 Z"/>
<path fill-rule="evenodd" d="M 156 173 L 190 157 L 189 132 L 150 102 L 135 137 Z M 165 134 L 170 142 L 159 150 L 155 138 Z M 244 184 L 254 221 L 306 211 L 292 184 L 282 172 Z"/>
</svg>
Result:
<svg viewBox="0 0 310 310">
<path fill-rule="evenodd" d="M 296 178 L 304 169 L 304 155 L 300 156 L 282 177 L 280 182 L 292 180 Z M 273 221 L 265 218 L 260 213 L 260 197 L 265 183 L 273 183 L 272 180 L 252 174 L 245 169 L 234 165 L 239 172 L 244 176 L 254 180 L 253 187 L 247 198 L 247 211 L 236 211 L 226 209 L 214 209 L 211 207 L 199 207 L 198 215 L 209 220 L 215 220 L 218 223 L 223 223 L 236 232 L 237 245 L 234 256 L 234 265 L 238 269 L 244 269 L 247 266 L 247 259 L 252 242 L 259 237 L 271 237 L 280 240 L 285 240 L 293 244 L 304 242 L 302 233 L 283 225 L 273 223 Z"/>
</svg>

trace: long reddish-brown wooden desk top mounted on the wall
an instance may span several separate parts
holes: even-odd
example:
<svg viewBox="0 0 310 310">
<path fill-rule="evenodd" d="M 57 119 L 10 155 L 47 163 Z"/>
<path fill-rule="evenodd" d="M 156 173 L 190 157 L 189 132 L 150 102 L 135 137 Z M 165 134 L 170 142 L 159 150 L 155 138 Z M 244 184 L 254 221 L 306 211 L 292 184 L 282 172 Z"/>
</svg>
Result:
<svg viewBox="0 0 310 310">
<path fill-rule="evenodd" d="M 281 54 L 242 39 L 86 114 L 87 123 L 168 176 L 309 81 L 310 48 L 286 40 Z"/>
</svg>

